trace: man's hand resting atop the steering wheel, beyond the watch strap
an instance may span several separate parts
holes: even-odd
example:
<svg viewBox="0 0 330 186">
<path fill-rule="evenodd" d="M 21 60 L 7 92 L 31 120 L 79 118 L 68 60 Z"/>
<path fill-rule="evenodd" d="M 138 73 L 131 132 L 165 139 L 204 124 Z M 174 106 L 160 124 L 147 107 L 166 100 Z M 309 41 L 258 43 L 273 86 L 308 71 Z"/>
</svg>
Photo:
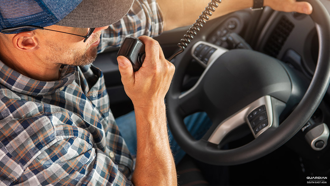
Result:
<svg viewBox="0 0 330 186">
<path fill-rule="evenodd" d="M 298 2 L 296 0 L 264 0 L 264 6 L 269 6 L 273 10 L 282 12 L 299 12 L 311 14 L 313 7 L 308 2 Z"/>
</svg>

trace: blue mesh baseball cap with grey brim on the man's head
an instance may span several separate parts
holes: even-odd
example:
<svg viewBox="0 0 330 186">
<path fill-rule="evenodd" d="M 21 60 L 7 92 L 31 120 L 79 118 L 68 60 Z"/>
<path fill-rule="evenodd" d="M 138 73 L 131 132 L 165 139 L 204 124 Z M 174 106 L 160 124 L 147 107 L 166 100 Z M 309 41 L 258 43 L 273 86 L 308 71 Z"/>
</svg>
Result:
<svg viewBox="0 0 330 186">
<path fill-rule="evenodd" d="M 127 14 L 134 0 L 0 0 L 0 32 L 21 26 L 96 28 Z M 23 28 L 11 33 L 34 30 Z"/>
</svg>

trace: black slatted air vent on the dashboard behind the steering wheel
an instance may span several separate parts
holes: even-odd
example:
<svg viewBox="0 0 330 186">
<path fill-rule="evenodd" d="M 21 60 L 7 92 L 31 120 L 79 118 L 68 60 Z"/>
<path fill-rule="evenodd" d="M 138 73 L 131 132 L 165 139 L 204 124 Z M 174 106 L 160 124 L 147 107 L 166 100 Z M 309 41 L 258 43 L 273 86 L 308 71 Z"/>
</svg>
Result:
<svg viewBox="0 0 330 186">
<path fill-rule="evenodd" d="M 293 27 L 293 23 L 283 16 L 269 36 L 264 47 L 264 52 L 276 58 Z"/>
</svg>

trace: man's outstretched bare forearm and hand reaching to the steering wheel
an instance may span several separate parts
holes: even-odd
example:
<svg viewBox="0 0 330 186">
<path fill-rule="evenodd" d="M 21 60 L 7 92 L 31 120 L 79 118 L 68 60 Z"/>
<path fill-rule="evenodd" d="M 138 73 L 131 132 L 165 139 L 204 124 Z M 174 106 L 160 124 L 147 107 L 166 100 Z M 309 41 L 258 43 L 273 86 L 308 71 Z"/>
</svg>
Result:
<svg viewBox="0 0 330 186">
<path fill-rule="evenodd" d="M 211 0 L 157 0 L 163 13 L 164 31 L 193 24 Z M 219 3 L 218 3 L 219 4 Z M 253 0 L 222 0 L 210 19 L 253 6 Z M 295 0 L 264 0 L 264 6 L 285 12 L 312 13 L 312 6 Z"/>
</svg>

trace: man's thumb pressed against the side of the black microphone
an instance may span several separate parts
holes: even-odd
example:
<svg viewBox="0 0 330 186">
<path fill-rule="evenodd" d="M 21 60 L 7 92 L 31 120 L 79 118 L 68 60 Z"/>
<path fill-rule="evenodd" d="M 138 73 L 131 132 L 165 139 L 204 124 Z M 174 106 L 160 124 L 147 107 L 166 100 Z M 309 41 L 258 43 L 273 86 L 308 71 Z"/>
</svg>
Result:
<svg viewBox="0 0 330 186">
<path fill-rule="evenodd" d="M 131 62 L 123 56 L 118 56 L 117 61 L 118 61 L 119 72 L 121 75 L 121 81 L 123 82 L 123 84 L 124 85 L 133 84 L 135 78 L 134 78 L 134 72 Z"/>
</svg>

